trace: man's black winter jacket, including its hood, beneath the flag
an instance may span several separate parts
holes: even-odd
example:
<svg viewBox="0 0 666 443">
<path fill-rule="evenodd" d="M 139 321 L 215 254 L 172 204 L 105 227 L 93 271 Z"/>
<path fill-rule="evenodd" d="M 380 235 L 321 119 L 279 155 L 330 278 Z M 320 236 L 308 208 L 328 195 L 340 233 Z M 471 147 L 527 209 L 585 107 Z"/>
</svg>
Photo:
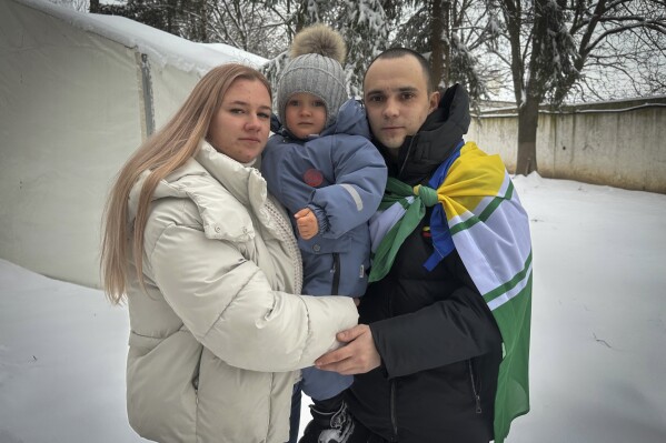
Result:
<svg viewBox="0 0 666 443">
<path fill-rule="evenodd" d="M 467 92 L 449 88 L 397 163 L 379 147 L 389 174 L 426 183 L 469 121 Z M 361 299 L 359 322 L 370 325 L 381 365 L 356 375 L 346 400 L 362 425 L 390 442 L 488 442 L 501 336 L 456 251 L 431 272 L 423 266 L 433 253 L 429 220 L 428 211 Z"/>
</svg>

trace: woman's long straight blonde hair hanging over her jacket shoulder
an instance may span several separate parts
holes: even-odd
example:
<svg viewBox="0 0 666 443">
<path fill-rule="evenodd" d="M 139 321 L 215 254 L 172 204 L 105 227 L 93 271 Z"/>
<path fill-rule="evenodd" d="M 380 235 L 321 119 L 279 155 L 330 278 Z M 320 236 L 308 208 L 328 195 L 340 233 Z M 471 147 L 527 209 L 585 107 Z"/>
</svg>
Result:
<svg viewBox="0 0 666 443">
<path fill-rule="evenodd" d="M 155 189 L 197 153 L 227 90 L 238 79 L 258 80 L 271 95 L 268 80 L 250 67 L 228 63 L 212 69 L 199 80 L 171 120 L 146 140 L 118 173 L 105 208 L 100 261 L 105 292 L 112 304 L 119 304 L 126 298 L 130 241 L 137 276 L 143 285 L 143 230 Z M 150 171 L 150 174 L 141 188 L 137 215 L 130 225 L 129 193 L 143 171 Z"/>
</svg>

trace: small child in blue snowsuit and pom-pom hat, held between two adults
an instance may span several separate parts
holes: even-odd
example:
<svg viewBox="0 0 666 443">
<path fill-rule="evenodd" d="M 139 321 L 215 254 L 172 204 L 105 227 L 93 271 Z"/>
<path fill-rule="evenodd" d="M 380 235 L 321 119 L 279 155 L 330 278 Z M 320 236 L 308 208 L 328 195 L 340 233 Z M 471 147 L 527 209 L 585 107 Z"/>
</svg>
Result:
<svg viewBox="0 0 666 443">
<path fill-rule="evenodd" d="M 302 292 L 358 298 L 366 290 L 370 264 L 367 222 L 381 201 L 387 171 L 369 141 L 364 109 L 347 100 L 340 64 L 345 51 L 340 34 L 326 26 L 296 36 L 277 88 L 282 127 L 268 141 L 261 172 L 269 191 L 294 215 L 304 261 Z M 301 443 L 317 442 L 320 434 L 326 442 L 345 441 L 354 423 L 342 391 L 351 382 L 351 376 L 335 372 L 302 371 L 301 389 L 312 399 L 314 420 Z"/>
</svg>

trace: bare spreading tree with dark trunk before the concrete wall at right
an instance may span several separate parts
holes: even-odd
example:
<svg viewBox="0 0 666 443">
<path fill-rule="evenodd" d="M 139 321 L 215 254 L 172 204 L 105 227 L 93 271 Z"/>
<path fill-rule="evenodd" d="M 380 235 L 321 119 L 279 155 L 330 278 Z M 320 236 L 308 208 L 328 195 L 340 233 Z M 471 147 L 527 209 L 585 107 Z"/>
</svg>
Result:
<svg viewBox="0 0 666 443">
<path fill-rule="evenodd" d="M 506 33 L 500 39 L 508 42 L 497 44 L 495 56 L 510 69 L 518 107 L 517 173 L 538 169 L 543 102 L 558 105 L 571 91 L 588 90 L 586 85 L 594 91 L 595 83 L 612 74 L 634 79 L 636 92 L 644 89 L 640 81 L 664 92 L 664 0 L 489 0 L 488 8 L 501 11 Z M 505 47 L 509 50 L 503 51 Z M 628 71 L 627 61 L 648 69 Z"/>
</svg>

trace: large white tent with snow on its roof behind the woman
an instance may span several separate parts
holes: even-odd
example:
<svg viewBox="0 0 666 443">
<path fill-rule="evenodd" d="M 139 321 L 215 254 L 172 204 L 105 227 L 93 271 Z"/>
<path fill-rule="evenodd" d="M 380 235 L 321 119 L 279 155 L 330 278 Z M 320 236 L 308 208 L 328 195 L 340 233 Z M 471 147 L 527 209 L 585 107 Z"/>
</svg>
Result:
<svg viewBox="0 0 666 443">
<path fill-rule="evenodd" d="M 0 0 L 0 258 L 99 286 L 108 189 L 210 68 L 266 60 L 44 0 Z"/>
</svg>

